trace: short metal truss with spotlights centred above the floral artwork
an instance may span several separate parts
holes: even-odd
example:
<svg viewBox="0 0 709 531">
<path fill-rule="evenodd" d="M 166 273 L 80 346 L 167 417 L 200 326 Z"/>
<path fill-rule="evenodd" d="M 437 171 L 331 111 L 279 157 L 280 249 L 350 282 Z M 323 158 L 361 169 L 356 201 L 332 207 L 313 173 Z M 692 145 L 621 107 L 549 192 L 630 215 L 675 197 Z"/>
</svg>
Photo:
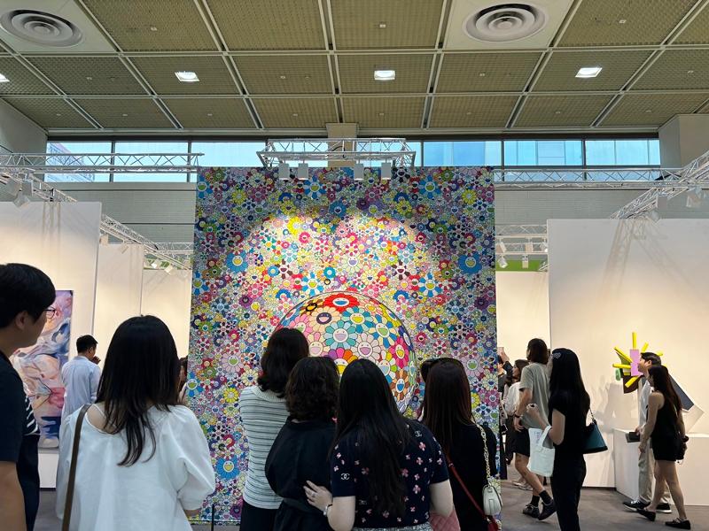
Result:
<svg viewBox="0 0 709 531">
<path fill-rule="evenodd" d="M 416 151 L 405 138 L 293 138 L 269 140 L 258 151 L 261 162 L 272 167 L 281 162 L 391 162 L 397 167 L 414 168 Z"/>
</svg>

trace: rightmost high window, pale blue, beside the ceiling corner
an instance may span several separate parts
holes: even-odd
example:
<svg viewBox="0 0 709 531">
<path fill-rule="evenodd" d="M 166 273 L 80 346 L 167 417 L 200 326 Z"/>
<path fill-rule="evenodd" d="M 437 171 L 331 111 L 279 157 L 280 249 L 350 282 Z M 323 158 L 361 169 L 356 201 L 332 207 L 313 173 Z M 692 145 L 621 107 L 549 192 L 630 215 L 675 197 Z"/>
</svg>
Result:
<svg viewBox="0 0 709 531">
<path fill-rule="evenodd" d="M 587 140 L 586 164 L 589 166 L 659 165 L 659 140 Z"/>
</svg>

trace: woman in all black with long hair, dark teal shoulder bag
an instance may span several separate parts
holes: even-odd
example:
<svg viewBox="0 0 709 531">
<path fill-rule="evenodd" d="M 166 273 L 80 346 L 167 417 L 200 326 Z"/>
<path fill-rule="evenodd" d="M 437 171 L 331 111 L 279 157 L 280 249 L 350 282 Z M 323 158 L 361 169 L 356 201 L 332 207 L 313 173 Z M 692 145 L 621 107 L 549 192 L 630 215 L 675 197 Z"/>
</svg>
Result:
<svg viewBox="0 0 709 531">
<path fill-rule="evenodd" d="M 572 350 L 553 350 L 550 362 L 549 419 L 541 418 L 536 404 L 529 404 L 527 412 L 542 428 L 551 426 L 549 438 L 556 448 L 551 492 L 559 527 L 561 531 L 580 531 L 579 501 L 586 478 L 583 447 L 591 400 L 583 385 L 579 358 Z"/>
</svg>

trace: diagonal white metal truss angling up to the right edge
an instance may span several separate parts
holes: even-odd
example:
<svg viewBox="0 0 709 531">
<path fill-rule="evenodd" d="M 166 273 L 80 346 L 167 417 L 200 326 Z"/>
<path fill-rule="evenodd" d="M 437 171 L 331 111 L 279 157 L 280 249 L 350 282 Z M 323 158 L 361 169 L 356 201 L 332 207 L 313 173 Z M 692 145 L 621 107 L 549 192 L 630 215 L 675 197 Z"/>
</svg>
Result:
<svg viewBox="0 0 709 531">
<path fill-rule="evenodd" d="M 666 179 L 666 186 L 647 190 L 641 196 L 614 212 L 611 219 L 635 218 L 650 215 L 673 197 L 693 189 L 709 187 L 709 151 L 684 166 L 678 173 Z M 657 215 L 657 214 L 656 214 Z"/>
</svg>

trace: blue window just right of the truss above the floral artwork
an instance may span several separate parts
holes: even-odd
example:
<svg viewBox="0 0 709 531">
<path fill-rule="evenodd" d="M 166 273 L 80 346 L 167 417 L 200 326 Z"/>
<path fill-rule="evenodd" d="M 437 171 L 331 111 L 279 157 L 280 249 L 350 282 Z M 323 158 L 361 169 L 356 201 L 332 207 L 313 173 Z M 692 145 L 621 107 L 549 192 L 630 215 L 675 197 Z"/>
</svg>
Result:
<svg viewBox="0 0 709 531">
<path fill-rule="evenodd" d="M 464 166 L 500 165 L 502 144 L 499 141 L 424 142 L 424 165 Z"/>
</svg>

